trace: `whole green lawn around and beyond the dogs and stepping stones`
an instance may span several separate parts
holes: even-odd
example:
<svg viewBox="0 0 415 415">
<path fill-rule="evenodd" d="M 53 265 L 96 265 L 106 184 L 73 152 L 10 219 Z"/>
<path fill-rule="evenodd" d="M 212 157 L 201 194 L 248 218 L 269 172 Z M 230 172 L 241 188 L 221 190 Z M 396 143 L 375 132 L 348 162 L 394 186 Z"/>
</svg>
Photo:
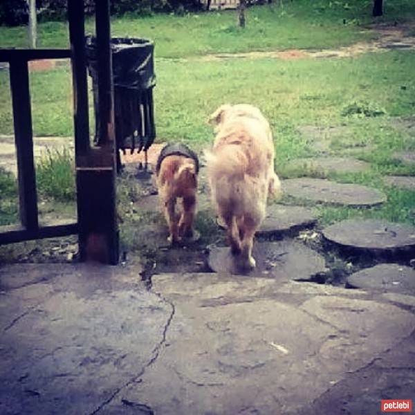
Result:
<svg viewBox="0 0 415 415">
<path fill-rule="evenodd" d="M 415 224 L 415 192 L 396 190 L 382 181 L 385 174 L 415 175 L 415 167 L 393 160 L 394 151 L 415 150 L 415 138 L 399 127 L 415 113 L 414 50 L 387 50 L 356 57 L 272 59 L 263 57 L 207 59 L 209 53 L 232 53 L 288 48 L 338 48 L 376 36 L 364 24 L 371 22 L 371 1 L 287 1 L 248 10 L 248 26 L 235 26 L 235 12 L 158 15 L 113 19 L 114 35 L 156 40 L 157 85 L 154 90 L 158 140 L 183 141 L 197 150 L 207 147 L 213 132 L 207 119 L 224 102 L 250 102 L 270 120 L 277 151 L 276 170 L 283 178 L 313 175 L 293 171 L 295 158 L 318 156 L 315 140 L 304 127 L 341 129 L 329 152 L 352 155 L 371 163 L 360 174 L 328 174 L 344 183 L 371 185 L 387 193 L 380 208 L 334 208 L 313 205 L 321 223 L 353 216 L 380 217 Z M 415 15 L 412 1 L 386 5 L 384 21 L 407 21 Z M 92 28 L 93 21 L 87 27 Z M 24 28 L 0 28 L 3 46 L 24 46 Z M 40 25 L 43 46 L 66 46 L 66 26 Z M 171 59 L 184 58 L 184 59 Z M 38 136 L 71 136 L 71 71 L 32 73 L 34 131 Z M 0 133 L 12 133 L 8 73 L 0 71 Z M 365 115 L 356 109 L 366 111 Z M 1 177 L 1 174 L 0 174 Z M 39 183 L 41 184 L 41 183 Z M 0 181 L 8 194 L 10 178 Z M 71 194 L 69 192 L 69 194 Z M 50 196 L 50 195 L 49 195 Z M 52 194 L 53 196 L 53 194 Z M 9 196 L 10 198 L 12 196 Z M 284 201 L 283 201 L 284 202 Z M 1 222 L 13 210 L 0 205 Z"/>
</svg>

